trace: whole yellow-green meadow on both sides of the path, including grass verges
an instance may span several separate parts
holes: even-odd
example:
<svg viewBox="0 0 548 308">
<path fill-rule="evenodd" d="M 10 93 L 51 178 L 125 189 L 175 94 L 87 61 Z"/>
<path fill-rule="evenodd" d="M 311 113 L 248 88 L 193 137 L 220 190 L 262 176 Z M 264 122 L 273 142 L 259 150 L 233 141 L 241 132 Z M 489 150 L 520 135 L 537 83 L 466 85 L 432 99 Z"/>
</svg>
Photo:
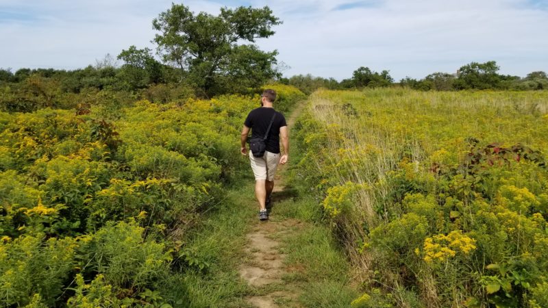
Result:
<svg viewBox="0 0 548 308">
<path fill-rule="evenodd" d="M 274 290 L 302 290 L 299 307 L 548 307 L 548 92 L 303 101 L 265 87 L 282 112 L 306 104 L 274 217 L 303 224 L 279 239 L 292 270 Z M 268 294 L 236 271 L 256 222 L 238 136 L 257 106 L 0 112 L 0 306 L 248 307 Z"/>
</svg>

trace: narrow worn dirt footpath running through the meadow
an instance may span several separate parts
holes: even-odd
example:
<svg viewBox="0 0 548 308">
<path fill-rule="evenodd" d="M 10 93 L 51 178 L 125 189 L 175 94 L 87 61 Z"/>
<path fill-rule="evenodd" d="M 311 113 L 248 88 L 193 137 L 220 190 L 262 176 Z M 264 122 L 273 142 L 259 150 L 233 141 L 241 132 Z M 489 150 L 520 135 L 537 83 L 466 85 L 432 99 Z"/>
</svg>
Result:
<svg viewBox="0 0 548 308">
<path fill-rule="evenodd" d="M 305 105 L 305 101 L 299 103 L 288 118 L 287 123 L 290 131 Z M 289 164 L 291 163 L 290 160 Z M 279 165 L 276 172 L 272 194 L 274 204 L 284 198 L 286 185 L 283 175 L 286 168 L 287 165 Z M 257 207 L 256 204 L 250 206 Z M 245 246 L 247 258 L 239 268 L 240 277 L 255 287 L 258 290 L 257 293 L 260 294 L 247 298 L 247 302 L 256 307 L 280 307 L 277 303 L 284 303 L 284 307 L 286 307 L 288 302 L 293 302 L 299 295 L 295 290 L 286 290 L 283 287 L 282 276 L 288 271 L 284 266 L 284 254 L 279 251 L 277 239 L 284 236 L 286 230 L 296 227 L 301 222 L 293 219 L 278 220 L 275 216 L 274 210 L 269 220 L 266 222 L 257 221 L 251 232 L 247 234 Z"/>
</svg>

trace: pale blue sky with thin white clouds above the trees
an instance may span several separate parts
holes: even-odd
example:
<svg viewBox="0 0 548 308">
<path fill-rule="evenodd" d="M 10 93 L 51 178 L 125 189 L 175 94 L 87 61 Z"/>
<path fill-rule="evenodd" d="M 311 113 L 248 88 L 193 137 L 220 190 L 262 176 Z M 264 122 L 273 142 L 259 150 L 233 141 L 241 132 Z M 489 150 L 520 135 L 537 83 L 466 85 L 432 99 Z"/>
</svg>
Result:
<svg viewBox="0 0 548 308">
<path fill-rule="evenodd" d="M 155 49 L 152 20 L 171 8 L 269 5 L 283 21 L 257 41 L 284 75 L 349 78 L 389 70 L 398 81 L 494 60 L 499 73 L 548 71 L 548 0 L 0 0 L 0 68 L 84 68 L 123 49 Z M 119 63 L 121 64 L 121 63 Z"/>
</svg>

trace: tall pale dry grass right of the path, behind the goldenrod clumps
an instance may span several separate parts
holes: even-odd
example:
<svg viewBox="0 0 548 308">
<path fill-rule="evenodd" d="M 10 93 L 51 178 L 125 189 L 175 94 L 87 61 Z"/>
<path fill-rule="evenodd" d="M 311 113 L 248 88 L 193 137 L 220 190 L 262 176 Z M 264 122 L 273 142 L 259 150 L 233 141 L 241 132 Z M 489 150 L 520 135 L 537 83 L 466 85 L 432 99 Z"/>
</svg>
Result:
<svg viewBox="0 0 548 308">
<path fill-rule="evenodd" d="M 389 201 L 398 189 L 388 181 L 395 170 L 411 168 L 410 173 L 436 192 L 440 184 L 427 173 L 425 162 L 443 156 L 447 164 L 462 164 L 469 151 L 466 138 L 548 149 L 546 91 L 318 90 L 310 95 L 307 112 L 321 123 L 327 138 L 323 151 L 306 159 L 327 177 L 322 181 L 328 187 L 349 182 L 360 187 L 351 194 L 352 206 L 336 217 L 334 230 L 364 281 L 371 279 L 371 260 L 379 256 L 362 253 L 358 243 L 369 230 L 403 213 L 401 204 Z M 388 289 L 401 283 L 397 273 L 385 273 L 384 278 L 391 281 Z M 436 282 L 432 275 L 423 278 L 421 292 L 437 307 Z M 399 303 L 406 306 L 403 298 Z"/>
</svg>

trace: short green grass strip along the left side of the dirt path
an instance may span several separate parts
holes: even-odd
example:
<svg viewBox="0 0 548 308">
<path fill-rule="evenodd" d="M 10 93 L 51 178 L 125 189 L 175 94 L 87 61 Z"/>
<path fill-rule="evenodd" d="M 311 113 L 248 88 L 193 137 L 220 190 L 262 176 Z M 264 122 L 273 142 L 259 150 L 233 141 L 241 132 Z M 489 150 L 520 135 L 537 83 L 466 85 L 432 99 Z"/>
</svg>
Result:
<svg viewBox="0 0 548 308">
<path fill-rule="evenodd" d="M 244 296 L 253 293 L 240 279 L 238 265 L 245 257 L 242 247 L 255 211 L 251 183 L 244 181 L 240 188 L 229 190 L 225 201 L 206 214 L 201 227 L 188 237 L 188 248 L 195 257 L 207 261 L 204 270 L 185 270 L 166 282 L 171 298 L 182 307 L 248 307 Z M 181 294 L 186 294 L 182 298 Z"/>
</svg>

